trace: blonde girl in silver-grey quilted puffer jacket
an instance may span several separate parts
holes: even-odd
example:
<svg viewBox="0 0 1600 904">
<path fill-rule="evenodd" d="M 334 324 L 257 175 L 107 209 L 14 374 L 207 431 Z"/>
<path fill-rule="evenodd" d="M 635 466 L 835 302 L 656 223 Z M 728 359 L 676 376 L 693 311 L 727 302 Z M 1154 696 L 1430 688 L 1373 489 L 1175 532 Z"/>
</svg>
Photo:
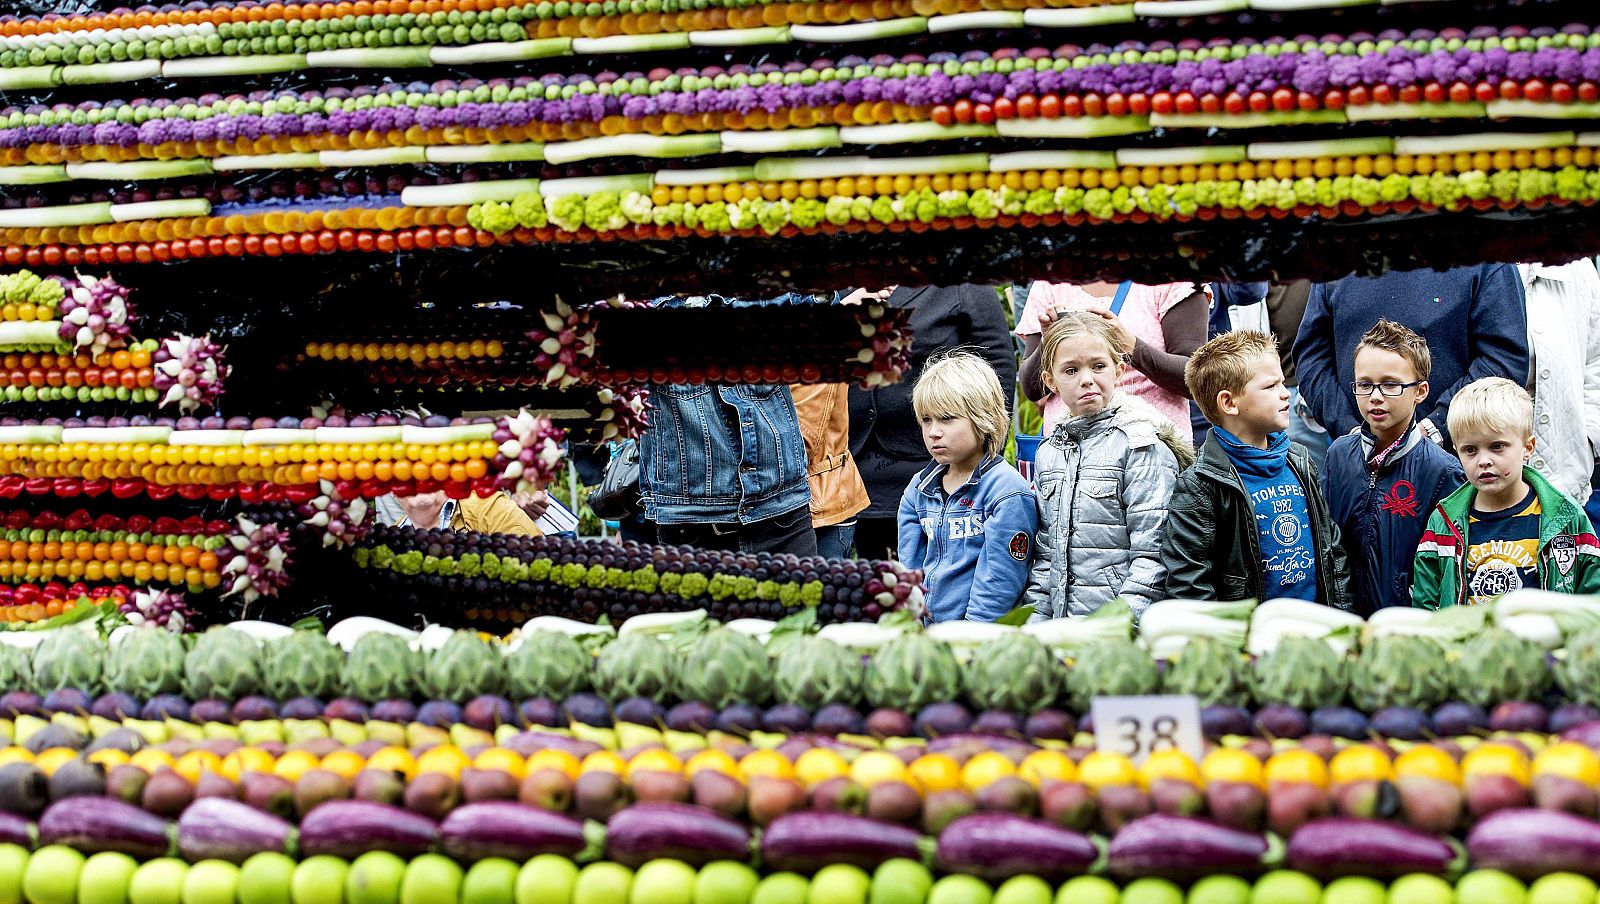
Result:
<svg viewBox="0 0 1600 904">
<path fill-rule="evenodd" d="M 1038 536 L 1024 600 L 1032 621 L 1086 616 L 1122 597 L 1162 598 L 1162 530 L 1194 448 L 1149 403 L 1117 394 L 1128 339 L 1099 314 L 1064 314 L 1042 342 L 1046 387 L 1067 403 L 1034 459 Z"/>
</svg>

